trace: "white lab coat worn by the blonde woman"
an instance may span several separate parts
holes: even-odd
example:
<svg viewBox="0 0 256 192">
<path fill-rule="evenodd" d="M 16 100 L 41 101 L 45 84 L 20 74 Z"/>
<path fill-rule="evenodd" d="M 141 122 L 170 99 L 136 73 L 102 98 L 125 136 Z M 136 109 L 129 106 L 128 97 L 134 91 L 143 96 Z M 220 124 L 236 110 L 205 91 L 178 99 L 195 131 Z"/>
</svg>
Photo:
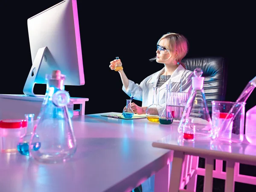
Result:
<svg viewBox="0 0 256 192">
<path fill-rule="evenodd" d="M 153 87 L 157 86 L 157 81 L 164 68 L 156 73 L 146 77 L 140 84 L 135 84 L 134 81 L 129 80 L 128 89 L 122 87 L 122 90 L 128 96 L 134 96 L 134 99 L 142 101 L 142 107 L 148 107 L 153 104 Z M 165 91 L 166 84 L 171 82 L 171 91 L 180 92 L 180 82 L 182 83 L 181 91 L 189 93 L 192 90 L 192 76 L 193 72 L 186 70 L 182 65 L 179 65 L 177 69 L 172 73 L 170 79 L 168 79 L 159 89 L 159 104 L 165 107 Z M 181 80 L 181 81 L 180 81 Z M 145 180 L 142 183 L 143 192 L 154 192 L 154 175 Z"/>
</svg>

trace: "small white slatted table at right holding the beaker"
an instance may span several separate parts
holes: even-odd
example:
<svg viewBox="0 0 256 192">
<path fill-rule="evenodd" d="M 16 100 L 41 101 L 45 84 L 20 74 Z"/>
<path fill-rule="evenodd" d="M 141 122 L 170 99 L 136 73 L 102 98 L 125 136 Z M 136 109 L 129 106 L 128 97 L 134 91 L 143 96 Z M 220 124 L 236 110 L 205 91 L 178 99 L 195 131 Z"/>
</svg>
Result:
<svg viewBox="0 0 256 192">
<path fill-rule="evenodd" d="M 195 191 L 197 175 L 205 176 L 204 192 L 212 192 L 212 177 L 225 180 L 225 192 L 234 191 L 235 181 L 256 185 L 256 177 L 239 175 L 239 163 L 256 166 L 255 145 L 246 142 L 228 145 L 210 140 L 195 140 L 193 143 L 183 141 L 176 132 L 153 142 L 152 146 L 174 151 L 169 192 L 186 191 L 183 187 L 187 183 L 187 191 Z M 205 169 L 198 168 L 198 156 L 205 158 Z M 215 159 L 216 168 L 213 170 Z M 227 161 L 226 172 L 222 172 L 223 160 Z"/>
</svg>

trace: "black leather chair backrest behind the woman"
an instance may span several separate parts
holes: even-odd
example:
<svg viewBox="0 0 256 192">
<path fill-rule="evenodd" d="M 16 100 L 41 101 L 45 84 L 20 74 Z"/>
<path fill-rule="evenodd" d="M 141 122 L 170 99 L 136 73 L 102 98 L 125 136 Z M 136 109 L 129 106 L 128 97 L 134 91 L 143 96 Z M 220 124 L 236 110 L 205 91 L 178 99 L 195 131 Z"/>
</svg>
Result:
<svg viewBox="0 0 256 192">
<path fill-rule="evenodd" d="M 204 93 L 212 113 L 212 101 L 224 101 L 227 87 L 227 62 L 223 57 L 184 58 L 187 70 L 200 67 L 203 70 Z"/>
</svg>

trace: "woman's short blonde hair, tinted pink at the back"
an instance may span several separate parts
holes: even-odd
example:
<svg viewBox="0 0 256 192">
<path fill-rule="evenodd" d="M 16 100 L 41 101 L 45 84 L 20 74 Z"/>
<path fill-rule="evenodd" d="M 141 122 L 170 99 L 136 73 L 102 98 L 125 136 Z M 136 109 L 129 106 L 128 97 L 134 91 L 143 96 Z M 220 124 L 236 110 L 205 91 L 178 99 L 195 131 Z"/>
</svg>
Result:
<svg viewBox="0 0 256 192">
<path fill-rule="evenodd" d="M 183 36 L 178 33 L 170 33 L 168 32 L 167 34 L 163 35 L 158 41 L 157 44 L 162 39 L 167 39 L 167 45 L 165 46 L 167 51 L 170 53 L 170 57 L 172 55 L 177 54 L 176 60 L 177 62 L 181 62 L 181 60 L 186 56 L 189 50 L 189 42 L 188 40 Z M 169 59 L 168 58 L 168 59 Z M 167 59 L 167 60 L 168 60 Z M 156 57 L 151 58 L 150 61 L 156 60 Z"/>
</svg>

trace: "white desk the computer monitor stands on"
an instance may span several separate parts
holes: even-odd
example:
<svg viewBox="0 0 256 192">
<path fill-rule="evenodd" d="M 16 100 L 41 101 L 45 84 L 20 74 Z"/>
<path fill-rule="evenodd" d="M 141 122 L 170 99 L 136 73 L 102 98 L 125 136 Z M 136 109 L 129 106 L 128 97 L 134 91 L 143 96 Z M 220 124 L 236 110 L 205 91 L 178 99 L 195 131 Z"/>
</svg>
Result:
<svg viewBox="0 0 256 192">
<path fill-rule="evenodd" d="M 0 94 L 0 119 L 23 119 L 24 114 L 34 113 L 38 116 L 44 96 Z M 79 115 L 85 114 L 85 102 L 88 98 L 70 97 L 74 105 L 80 105 Z M 75 115 L 75 114 L 74 114 Z"/>
</svg>

